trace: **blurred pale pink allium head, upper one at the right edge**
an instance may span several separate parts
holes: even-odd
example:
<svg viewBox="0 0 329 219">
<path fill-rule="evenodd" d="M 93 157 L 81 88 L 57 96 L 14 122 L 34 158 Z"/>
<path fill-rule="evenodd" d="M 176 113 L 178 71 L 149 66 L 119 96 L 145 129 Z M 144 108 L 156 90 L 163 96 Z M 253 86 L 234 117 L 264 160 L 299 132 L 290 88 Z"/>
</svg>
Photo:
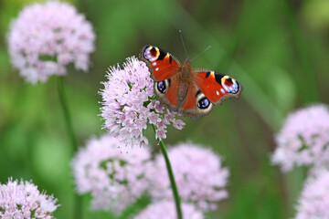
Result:
<svg viewBox="0 0 329 219">
<path fill-rule="evenodd" d="M 313 105 L 292 112 L 276 136 L 278 148 L 272 162 L 287 172 L 294 165 L 319 166 L 329 161 L 329 111 Z"/>
</svg>

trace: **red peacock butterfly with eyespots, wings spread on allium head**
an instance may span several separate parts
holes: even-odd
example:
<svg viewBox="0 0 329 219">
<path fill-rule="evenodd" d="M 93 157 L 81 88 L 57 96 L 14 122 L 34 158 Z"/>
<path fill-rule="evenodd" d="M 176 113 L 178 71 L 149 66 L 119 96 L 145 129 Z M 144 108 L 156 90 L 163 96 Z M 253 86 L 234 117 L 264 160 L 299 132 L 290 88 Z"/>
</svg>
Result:
<svg viewBox="0 0 329 219">
<path fill-rule="evenodd" d="M 242 91 L 236 79 L 206 68 L 191 68 L 189 58 L 182 64 L 159 47 L 143 47 L 140 59 L 150 69 L 161 105 L 195 120 L 207 115 L 214 104 L 239 99 Z"/>
</svg>

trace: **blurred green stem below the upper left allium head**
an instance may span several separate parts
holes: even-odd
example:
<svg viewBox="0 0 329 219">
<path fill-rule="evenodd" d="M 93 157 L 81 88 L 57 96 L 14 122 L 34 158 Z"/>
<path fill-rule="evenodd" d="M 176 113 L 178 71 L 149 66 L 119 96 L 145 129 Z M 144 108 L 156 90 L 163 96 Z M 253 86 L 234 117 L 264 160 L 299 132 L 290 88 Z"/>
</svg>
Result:
<svg viewBox="0 0 329 219">
<path fill-rule="evenodd" d="M 75 151 L 78 151 L 78 141 L 77 141 L 77 137 L 74 133 L 72 121 L 71 121 L 70 115 L 69 115 L 69 105 L 68 105 L 68 99 L 67 99 L 65 89 L 64 89 L 63 77 L 58 77 L 58 95 L 59 95 L 60 104 L 61 104 L 61 107 L 62 107 L 63 113 L 64 113 L 65 126 L 68 131 L 72 154 L 74 154 Z M 74 202 L 75 202 L 74 217 L 76 219 L 81 219 L 82 218 L 81 199 L 77 193 L 74 194 Z"/>
</svg>

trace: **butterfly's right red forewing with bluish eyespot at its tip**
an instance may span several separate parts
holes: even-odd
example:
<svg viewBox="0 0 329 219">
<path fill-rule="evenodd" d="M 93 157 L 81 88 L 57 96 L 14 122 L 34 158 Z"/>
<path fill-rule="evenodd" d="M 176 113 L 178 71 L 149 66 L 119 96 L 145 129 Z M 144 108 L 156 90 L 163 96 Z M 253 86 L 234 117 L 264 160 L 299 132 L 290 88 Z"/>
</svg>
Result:
<svg viewBox="0 0 329 219">
<path fill-rule="evenodd" d="M 196 85 L 206 98 L 214 103 L 221 104 L 225 99 L 236 98 L 242 91 L 239 81 L 216 71 L 195 68 Z"/>
</svg>

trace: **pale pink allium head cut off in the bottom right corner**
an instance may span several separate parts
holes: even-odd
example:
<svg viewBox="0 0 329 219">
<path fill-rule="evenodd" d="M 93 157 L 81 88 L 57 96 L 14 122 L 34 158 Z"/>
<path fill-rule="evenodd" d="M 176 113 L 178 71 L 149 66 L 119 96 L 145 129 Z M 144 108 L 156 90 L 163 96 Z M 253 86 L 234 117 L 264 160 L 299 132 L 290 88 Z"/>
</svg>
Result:
<svg viewBox="0 0 329 219">
<path fill-rule="evenodd" d="M 329 172 L 310 176 L 302 190 L 295 219 L 329 218 Z"/>
</svg>

